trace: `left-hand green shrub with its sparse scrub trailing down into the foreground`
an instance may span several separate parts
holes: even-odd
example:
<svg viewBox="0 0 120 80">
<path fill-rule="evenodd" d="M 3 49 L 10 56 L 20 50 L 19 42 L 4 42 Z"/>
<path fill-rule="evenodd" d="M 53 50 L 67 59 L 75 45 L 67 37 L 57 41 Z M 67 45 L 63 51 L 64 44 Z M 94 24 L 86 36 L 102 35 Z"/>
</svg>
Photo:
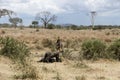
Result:
<svg viewBox="0 0 120 80">
<path fill-rule="evenodd" d="M 0 55 L 10 58 L 17 65 L 15 69 L 21 70 L 22 74 L 15 78 L 30 78 L 37 80 L 38 75 L 35 67 L 33 67 L 29 61 L 29 49 L 24 42 L 19 42 L 10 37 L 0 38 Z"/>
</svg>

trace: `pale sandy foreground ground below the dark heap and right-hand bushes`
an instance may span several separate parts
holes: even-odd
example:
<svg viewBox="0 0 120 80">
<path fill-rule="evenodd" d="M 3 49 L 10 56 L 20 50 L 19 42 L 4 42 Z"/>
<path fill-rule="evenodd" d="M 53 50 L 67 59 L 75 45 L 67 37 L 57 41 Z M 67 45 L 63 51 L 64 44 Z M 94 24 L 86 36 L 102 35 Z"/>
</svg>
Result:
<svg viewBox="0 0 120 80">
<path fill-rule="evenodd" d="M 33 56 L 43 80 L 120 80 L 120 62 L 117 61 L 83 61 L 83 66 L 80 62 L 69 60 L 48 64 L 36 62 L 40 59 L 39 54 Z M 77 64 L 80 65 L 75 66 Z"/>
</svg>

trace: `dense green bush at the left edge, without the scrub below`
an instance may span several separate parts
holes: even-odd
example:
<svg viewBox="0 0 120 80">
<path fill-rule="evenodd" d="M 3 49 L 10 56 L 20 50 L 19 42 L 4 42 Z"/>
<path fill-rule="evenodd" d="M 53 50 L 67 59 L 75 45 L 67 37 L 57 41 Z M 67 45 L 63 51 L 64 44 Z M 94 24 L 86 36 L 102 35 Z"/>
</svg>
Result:
<svg viewBox="0 0 120 80">
<path fill-rule="evenodd" d="M 24 59 L 29 56 L 29 50 L 23 42 L 19 42 L 10 37 L 1 37 L 0 44 L 0 54 L 15 60 L 15 62 L 24 61 Z"/>
</svg>

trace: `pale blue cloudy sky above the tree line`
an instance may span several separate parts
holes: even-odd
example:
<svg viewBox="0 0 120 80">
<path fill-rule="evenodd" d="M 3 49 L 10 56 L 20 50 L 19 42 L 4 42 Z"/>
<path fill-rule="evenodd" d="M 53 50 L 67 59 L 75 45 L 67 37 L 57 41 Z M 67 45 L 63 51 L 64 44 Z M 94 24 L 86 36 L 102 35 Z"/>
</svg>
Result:
<svg viewBox="0 0 120 80">
<path fill-rule="evenodd" d="M 95 11 L 96 25 L 120 25 L 120 0 L 0 0 L 0 9 L 16 12 L 12 17 L 22 18 L 24 25 L 41 11 L 55 14 L 54 24 L 91 25 L 90 12 Z M 8 16 L 0 18 L 0 23 L 8 22 Z"/>
</svg>

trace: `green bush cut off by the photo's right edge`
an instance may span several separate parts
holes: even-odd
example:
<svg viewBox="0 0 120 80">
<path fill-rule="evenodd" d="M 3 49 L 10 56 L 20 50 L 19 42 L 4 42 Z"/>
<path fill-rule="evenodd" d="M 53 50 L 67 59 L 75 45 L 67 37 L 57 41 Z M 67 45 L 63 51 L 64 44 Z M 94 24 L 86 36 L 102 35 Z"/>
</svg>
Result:
<svg viewBox="0 0 120 80">
<path fill-rule="evenodd" d="M 120 39 L 113 42 L 107 49 L 109 58 L 120 60 Z"/>
</svg>

